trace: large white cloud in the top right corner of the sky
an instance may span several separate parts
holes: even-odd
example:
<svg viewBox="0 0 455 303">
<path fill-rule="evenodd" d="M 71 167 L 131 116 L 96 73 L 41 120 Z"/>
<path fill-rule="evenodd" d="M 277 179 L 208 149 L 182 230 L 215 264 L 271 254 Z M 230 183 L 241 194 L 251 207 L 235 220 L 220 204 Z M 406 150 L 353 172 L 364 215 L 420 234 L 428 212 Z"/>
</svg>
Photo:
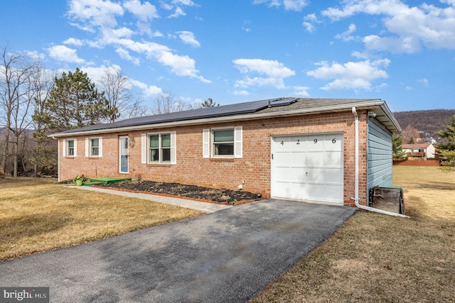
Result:
<svg viewBox="0 0 455 303">
<path fill-rule="evenodd" d="M 421 45 L 455 49 L 455 1 L 440 2 L 449 6 L 422 4 L 411 7 L 400 0 L 350 0 L 344 2 L 342 9 L 329 8 L 322 14 L 332 21 L 359 13 L 384 16 L 382 21 L 390 36 L 365 37 L 365 45 L 370 49 L 395 53 L 414 53 Z"/>
</svg>

